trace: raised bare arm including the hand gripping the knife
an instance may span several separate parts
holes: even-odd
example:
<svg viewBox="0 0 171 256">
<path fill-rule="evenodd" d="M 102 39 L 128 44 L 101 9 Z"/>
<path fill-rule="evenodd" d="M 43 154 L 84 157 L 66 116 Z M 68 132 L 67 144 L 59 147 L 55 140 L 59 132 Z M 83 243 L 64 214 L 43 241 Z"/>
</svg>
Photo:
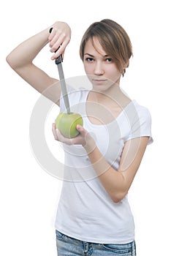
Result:
<svg viewBox="0 0 171 256">
<path fill-rule="evenodd" d="M 53 32 L 49 34 L 50 27 L 53 27 Z M 49 28 L 35 34 L 33 37 L 26 39 L 12 50 L 7 56 L 7 62 L 21 78 L 26 80 L 31 86 L 40 93 L 44 93 L 46 97 L 56 102 L 61 94 L 61 88 L 58 80 L 50 78 L 42 69 L 33 64 L 34 58 L 40 50 L 50 42 L 52 52 L 55 52 L 59 45 L 61 48 L 53 54 L 52 59 L 56 59 L 60 54 L 64 55 L 66 45 L 71 37 L 71 30 L 66 23 L 56 22 Z M 56 84 L 56 86 L 52 86 Z M 45 90 L 50 88 L 46 93 Z M 54 97 L 55 95 L 55 97 Z M 59 102 L 57 102 L 59 104 Z"/>
</svg>

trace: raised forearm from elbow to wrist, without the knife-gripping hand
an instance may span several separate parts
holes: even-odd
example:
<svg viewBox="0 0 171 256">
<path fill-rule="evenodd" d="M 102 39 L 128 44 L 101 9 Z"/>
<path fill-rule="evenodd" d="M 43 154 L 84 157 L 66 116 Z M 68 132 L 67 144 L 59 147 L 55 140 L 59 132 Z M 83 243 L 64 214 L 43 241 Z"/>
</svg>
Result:
<svg viewBox="0 0 171 256">
<path fill-rule="evenodd" d="M 26 39 L 18 45 L 17 48 L 12 50 L 7 56 L 7 62 L 13 69 L 18 69 L 27 64 L 31 64 L 40 50 L 47 45 L 48 42 L 48 29 L 45 29 L 33 37 Z"/>
</svg>

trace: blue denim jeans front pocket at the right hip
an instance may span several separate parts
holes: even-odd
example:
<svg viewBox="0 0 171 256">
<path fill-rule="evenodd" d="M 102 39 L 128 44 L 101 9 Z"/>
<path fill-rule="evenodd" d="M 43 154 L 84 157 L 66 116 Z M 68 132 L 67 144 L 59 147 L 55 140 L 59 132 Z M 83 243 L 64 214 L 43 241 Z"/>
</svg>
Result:
<svg viewBox="0 0 171 256">
<path fill-rule="evenodd" d="M 132 245 L 129 244 L 103 244 L 104 249 L 113 252 L 115 255 L 131 256 Z"/>
</svg>

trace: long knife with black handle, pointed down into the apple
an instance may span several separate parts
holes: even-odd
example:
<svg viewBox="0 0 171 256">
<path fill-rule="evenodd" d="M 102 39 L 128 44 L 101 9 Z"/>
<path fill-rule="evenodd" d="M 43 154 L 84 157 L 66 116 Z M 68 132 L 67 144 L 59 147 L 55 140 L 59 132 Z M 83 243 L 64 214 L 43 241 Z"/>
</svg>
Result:
<svg viewBox="0 0 171 256">
<path fill-rule="evenodd" d="M 52 30 L 53 30 L 53 28 L 50 28 L 49 32 L 51 33 Z M 66 108 L 66 112 L 69 114 L 71 112 L 70 112 L 70 107 L 69 107 L 69 98 L 68 98 L 67 89 L 66 89 L 66 82 L 65 82 L 65 78 L 64 78 L 64 71 L 63 71 L 63 67 L 62 67 L 62 62 L 63 62 L 62 56 L 61 55 L 58 56 L 58 58 L 56 58 L 55 62 L 58 67 L 58 75 L 60 78 L 62 95 L 64 97 L 64 105 Z"/>
</svg>

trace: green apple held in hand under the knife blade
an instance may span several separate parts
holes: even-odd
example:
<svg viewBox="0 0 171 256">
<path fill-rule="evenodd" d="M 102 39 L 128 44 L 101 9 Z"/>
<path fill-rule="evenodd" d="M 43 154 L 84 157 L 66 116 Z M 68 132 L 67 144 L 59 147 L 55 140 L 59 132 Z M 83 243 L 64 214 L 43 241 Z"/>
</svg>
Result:
<svg viewBox="0 0 171 256">
<path fill-rule="evenodd" d="M 60 113 L 56 118 L 56 129 L 65 138 L 75 138 L 79 134 L 77 124 L 83 126 L 83 118 L 78 113 Z"/>
</svg>

